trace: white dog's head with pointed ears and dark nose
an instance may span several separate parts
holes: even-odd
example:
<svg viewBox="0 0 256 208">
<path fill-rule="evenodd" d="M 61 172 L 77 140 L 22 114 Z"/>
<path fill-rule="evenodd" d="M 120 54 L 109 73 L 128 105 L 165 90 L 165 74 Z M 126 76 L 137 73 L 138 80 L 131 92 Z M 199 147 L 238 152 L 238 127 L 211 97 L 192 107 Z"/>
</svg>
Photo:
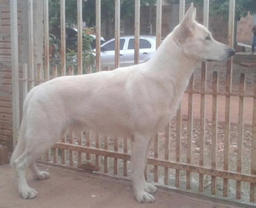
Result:
<svg viewBox="0 0 256 208">
<path fill-rule="evenodd" d="M 225 61 L 235 53 L 231 47 L 215 41 L 208 29 L 196 21 L 193 3 L 175 28 L 175 35 L 184 54 L 196 61 Z"/>
</svg>

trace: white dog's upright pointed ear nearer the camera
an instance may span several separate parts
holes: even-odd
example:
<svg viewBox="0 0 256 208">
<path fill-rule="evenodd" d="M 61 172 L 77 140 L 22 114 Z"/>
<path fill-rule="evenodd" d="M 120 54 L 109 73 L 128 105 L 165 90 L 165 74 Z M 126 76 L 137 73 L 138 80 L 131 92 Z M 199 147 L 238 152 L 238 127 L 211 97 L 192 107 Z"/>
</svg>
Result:
<svg viewBox="0 0 256 208">
<path fill-rule="evenodd" d="M 196 8 L 191 3 L 187 13 L 180 23 L 179 39 L 185 39 L 188 36 L 195 34 L 195 19 L 196 19 Z"/>
</svg>

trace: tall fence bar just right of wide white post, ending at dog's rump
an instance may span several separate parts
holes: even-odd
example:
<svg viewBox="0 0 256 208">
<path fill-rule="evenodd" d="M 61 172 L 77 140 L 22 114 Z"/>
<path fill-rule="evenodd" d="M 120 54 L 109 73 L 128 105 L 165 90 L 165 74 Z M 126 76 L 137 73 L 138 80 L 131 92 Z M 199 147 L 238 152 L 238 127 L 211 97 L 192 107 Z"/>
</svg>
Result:
<svg viewBox="0 0 256 208">
<path fill-rule="evenodd" d="M 28 0 L 28 62 L 29 77 L 34 79 L 34 36 L 33 36 L 33 0 Z M 28 83 L 29 90 L 34 87 L 34 81 Z"/>
</svg>

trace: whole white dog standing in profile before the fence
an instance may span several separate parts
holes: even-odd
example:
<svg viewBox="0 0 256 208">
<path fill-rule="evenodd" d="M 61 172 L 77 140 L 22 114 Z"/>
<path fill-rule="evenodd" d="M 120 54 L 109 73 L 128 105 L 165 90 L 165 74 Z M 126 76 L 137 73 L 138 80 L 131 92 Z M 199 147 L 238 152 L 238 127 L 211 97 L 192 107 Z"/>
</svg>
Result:
<svg viewBox="0 0 256 208">
<path fill-rule="evenodd" d="M 196 62 L 223 61 L 233 54 L 233 49 L 216 42 L 195 17 L 196 8 L 191 4 L 181 24 L 146 63 L 58 77 L 28 93 L 11 158 L 22 198 L 37 194 L 28 187 L 25 168 L 30 167 L 36 179 L 48 178 L 48 172 L 38 170 L 35 159 L 71 128 L 130 137 L 134 196 L 139 202 L 154 201 L 151 193 L 157 188 L 146 183 L 143 174 L 152 138 L 176 112 Z"/>
</svg>

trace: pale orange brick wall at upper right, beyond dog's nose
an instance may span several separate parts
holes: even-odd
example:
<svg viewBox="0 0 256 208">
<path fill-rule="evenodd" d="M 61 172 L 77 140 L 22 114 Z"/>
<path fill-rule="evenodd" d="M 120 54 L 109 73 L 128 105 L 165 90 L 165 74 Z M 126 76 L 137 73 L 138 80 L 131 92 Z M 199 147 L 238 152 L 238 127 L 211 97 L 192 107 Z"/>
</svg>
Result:
<svg viewBox="0 0 256 208">
<path fill-rule="evenodd" d="M 237 42 L 251 44 L 253 33 L 251 29 L 254 25 L 254 17 L 248 14 L 247 17 L 241 18 L 237 21 Z"/>
</svg>

